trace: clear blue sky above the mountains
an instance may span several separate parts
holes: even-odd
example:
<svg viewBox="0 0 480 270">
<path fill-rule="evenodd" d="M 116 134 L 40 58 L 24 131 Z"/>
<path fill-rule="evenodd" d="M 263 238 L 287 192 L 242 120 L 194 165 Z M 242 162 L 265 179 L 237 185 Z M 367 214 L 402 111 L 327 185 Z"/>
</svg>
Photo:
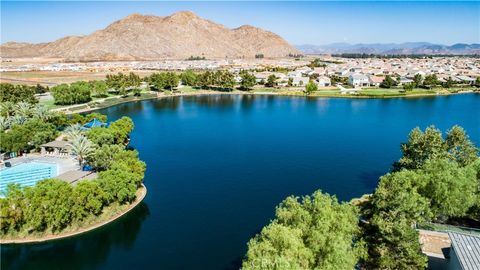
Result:
<svg viewBox="0 0 480 270">
<path fill-rule="evenodd" d="M 480 43 L 480 2 L 60 2 L 1 1 L 1 42 L 86 35 L 131 13 L 190 10 L 238 27 L 273 31 L 292 44 Z"/>
</svg>

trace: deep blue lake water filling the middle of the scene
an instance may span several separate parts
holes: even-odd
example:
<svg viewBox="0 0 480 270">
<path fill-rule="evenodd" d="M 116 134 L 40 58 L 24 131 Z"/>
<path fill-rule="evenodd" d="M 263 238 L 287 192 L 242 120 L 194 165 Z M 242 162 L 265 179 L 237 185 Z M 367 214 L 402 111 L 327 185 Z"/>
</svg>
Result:
<svg viewBox="0 0 480 270">
<path fill-rule="evenodd" d="M 148 195 L 97 231 L 2 247 L 2 269 L 238 269 L 289 195 L 373 191 L 408 132 L 463 126 L 480 143 L 480 95 L 415 99 L 199 96 L 100 111 L 135 122 Z"/>
</svg>

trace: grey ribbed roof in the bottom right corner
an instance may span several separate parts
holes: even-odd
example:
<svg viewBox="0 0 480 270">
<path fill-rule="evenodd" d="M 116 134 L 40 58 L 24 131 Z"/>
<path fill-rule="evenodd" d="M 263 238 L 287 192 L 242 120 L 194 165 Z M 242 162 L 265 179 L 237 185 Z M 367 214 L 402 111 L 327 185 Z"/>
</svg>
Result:
<svg viewBox="0 0 480 270">
<path fill-rule="evenodd" d="M 480 236 L 449 232 L 451 241 L 448 270 L 480 269 Z"/>
</svg>

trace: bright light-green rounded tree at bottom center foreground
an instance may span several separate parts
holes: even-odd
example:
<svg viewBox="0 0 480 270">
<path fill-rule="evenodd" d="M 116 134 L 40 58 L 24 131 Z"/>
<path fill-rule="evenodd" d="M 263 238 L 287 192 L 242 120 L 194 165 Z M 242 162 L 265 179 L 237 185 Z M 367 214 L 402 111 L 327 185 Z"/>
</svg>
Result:
<svg viewBox="0 0 480 270">
<path fill-rule="evenodd" d="M 352 205 L 319 191 L 288 197 L 248 243 L 242 269 L 353 269 L 364 254 L 358 233 Z"/>
</svg>

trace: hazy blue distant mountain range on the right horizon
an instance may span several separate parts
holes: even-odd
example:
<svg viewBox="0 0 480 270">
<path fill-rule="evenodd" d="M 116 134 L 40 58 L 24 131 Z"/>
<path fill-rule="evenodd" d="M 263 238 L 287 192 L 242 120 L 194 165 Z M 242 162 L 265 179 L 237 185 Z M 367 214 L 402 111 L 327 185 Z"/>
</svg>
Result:
<svg viewBox="0 0 480 270">
<path fill-rule="evenodd" d="M 332 43 L 328 45 L 299 45 L 305 54 L 480 54 L 480 44 L 457 43 L 452 46 L 428 42 L 348 44 Z"/>
</svg>

